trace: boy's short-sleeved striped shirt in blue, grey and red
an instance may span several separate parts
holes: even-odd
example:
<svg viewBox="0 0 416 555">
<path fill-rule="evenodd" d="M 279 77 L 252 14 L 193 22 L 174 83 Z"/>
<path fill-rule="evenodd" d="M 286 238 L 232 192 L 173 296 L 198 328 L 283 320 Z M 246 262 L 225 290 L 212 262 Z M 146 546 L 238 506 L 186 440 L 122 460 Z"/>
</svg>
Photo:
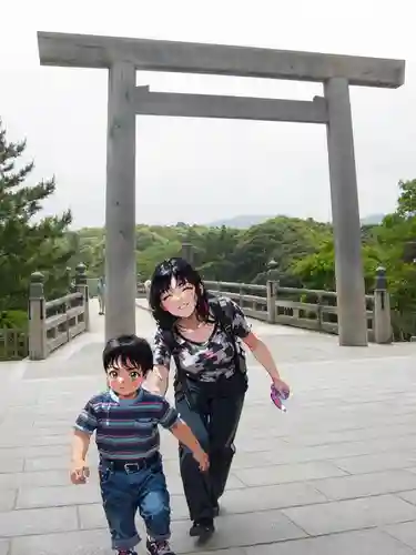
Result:
<svg viewBox="0 0 416 555">
<path fill-rule="evenodd" d="M 120 400 L 109 390 L 93 396 L 78 416 L 75 430 L 92 435 L 103 458 L 136 461 L 160 450 L 158 424 L 166 430 L 180 422 L 169 402 L 145 390 Z"/>
</svg>

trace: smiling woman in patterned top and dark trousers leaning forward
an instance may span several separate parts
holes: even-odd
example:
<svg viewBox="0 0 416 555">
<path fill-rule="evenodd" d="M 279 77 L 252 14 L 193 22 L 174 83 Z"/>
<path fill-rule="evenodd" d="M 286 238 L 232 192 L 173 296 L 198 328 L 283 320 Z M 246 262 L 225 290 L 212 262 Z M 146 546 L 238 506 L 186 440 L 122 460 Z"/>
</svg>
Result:
<svg viewBox="0 0 416 555">
<path fill-rule="evenodd" d="M 156 266 L 150 306 L 158 330 L 149 387 L 161 395 L 166 393 L 173 357 L 176 408 L 210 454 L 210 471 L 203 474 L 191 452 L 180 447 L 181 476 L 193 521 L 190 535 L 206 539 L 214 532 L 247 390 L 241 340 L 277 390 L 288 392 L 288 386 L 242 310 L 230 299 L 209 299 L 199 273 L 185 260 L 170 259 Z"/>
</svg>

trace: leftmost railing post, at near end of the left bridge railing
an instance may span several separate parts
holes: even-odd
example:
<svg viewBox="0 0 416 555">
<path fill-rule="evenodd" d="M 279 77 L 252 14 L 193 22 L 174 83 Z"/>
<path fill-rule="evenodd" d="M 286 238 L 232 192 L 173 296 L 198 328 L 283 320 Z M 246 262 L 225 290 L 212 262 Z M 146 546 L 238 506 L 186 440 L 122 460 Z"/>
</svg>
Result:
<svg viewBox="0 0 416 555">
<path fill-rule="evenodd" d="M 31 361 L 43 361 L 48 356 L 43 283 L 43 274 L 33 272 L 29 287 L 29 359 Z"/>
</svg>

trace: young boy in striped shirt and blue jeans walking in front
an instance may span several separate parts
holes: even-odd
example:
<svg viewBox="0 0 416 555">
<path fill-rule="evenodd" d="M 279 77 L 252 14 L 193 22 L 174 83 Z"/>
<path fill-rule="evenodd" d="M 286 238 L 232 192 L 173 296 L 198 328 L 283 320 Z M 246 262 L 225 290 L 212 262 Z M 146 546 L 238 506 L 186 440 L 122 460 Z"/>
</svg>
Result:
<svg viewBox="0 0 416 555">
<path fill-rule="evenodd" d="M 71 481 L 84 484 L 85 456 L 95 432 L 100 485 L 112 548 L 135 555 L 140 537 L 134 524 L 139 509 L 148 532 L 150 555 L 174 555 L 170 545 L 170 496 L 160 455 L 158 424 L 170 430 L 200 464 L 209 467 L 191 430 L 168 401 L 141 387 L 153 369 L 149 343 L 135 335 L 110 340 L 103 351 L 109 391 L 92 397 L 77 418 Z"/>
</svg>

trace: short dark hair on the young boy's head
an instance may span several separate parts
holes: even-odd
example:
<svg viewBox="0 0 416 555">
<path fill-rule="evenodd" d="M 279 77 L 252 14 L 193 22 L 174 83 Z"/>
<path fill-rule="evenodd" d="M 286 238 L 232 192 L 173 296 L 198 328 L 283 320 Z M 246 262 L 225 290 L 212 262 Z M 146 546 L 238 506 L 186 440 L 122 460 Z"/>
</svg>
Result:
<svg viewBox="0 0 416 555">
<path fill-rule="evenodd" d="M 146 340 L 136 335 L 120 335 L 106 342 L 102 352 L 105 372 L 120 363 L 126 369 L 141 367 L 143 375 L 153 369 L 153 353 Z"/>
</svg>

